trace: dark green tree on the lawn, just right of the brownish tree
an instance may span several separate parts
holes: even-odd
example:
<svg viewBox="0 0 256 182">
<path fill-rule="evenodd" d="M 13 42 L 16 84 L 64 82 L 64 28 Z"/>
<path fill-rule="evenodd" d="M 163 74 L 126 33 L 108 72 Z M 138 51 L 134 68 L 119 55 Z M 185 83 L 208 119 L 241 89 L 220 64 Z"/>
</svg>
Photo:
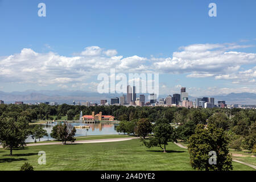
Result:
<svg viewBox="0 0 256 182">
<path fill-rule="evenodd" d="M 153 137 L 150 137 L 148 141 L 145 139 L 142 140 L 143 144 L 148 148 L 160 147 L 163 152 L 166 152 L 168 142 L 177 142 L 174 129 L 168 121 L 164 122 L 163 120 L 162 122 L 158 121 L 155 123 L 152 132 L 154 133 Z"/>
</svg>

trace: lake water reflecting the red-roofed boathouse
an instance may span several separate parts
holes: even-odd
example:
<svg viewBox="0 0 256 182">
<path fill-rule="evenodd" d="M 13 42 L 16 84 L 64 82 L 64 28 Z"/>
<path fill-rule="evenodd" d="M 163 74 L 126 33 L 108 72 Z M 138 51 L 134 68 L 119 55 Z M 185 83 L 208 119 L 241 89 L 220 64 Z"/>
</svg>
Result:
<svg viewBox="0 0 256 182">
<path fill-rule="evenodd" d="M 44 138 L 40 138 L 40 141 L 52 140 L 50 134 L 52 132 L 53 126 L 57 125 L 57 123 L 45 123 L 41 126 L 44 130 L 47 131 L 48 137 L 44 136 Z M 76 137 L 86 136 L 86 135 L 111 135 L 111 134 L 119 134 L 116 130 L 117 125 L 113 122 L 100 122 L 100 123 L 81 123 L 75 122 L 71 123 L 72 126 L 90 126 L 89 129 L 76 129 Z M 35 127 L 35 125 L 31 125 L 30 127 Z M 38 139 L 37 139 L 38 141 Z M 34 142 L 34 139 L 28 137 L 26 142 Z"/>
</svg>

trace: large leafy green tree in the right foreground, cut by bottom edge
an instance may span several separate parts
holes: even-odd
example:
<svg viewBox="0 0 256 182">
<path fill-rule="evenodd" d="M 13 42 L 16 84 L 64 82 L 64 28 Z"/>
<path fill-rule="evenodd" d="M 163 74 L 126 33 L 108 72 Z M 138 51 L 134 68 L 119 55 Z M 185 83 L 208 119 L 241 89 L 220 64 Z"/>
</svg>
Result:
<svg viewBox="0 0 256 182">
<path fill-rule="evenodd" d="M 189 138 L 188 152 L 193 168 L 205 171 L 232 170 L 232 156 L 229 154 L 228 137 L 223 129 L 210 124 L 197 125 L 195 134 Z M 209 152 L 217 155 L 217 164 L 209 164 Z"/>
</svg>

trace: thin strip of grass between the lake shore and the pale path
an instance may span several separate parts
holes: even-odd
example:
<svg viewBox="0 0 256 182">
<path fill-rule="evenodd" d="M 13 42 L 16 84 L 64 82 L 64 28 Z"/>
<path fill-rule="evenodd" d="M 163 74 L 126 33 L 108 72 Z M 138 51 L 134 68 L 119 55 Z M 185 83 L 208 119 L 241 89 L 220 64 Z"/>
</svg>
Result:
<svg viewBox="0 0 256 182">
<path fill-rule="evenodd" d="M 134 137 L 134 136 L 130 136 L 130 135 L 88 135 L 88 136 L 81 136 L 81 137 L 75 137 L 76 141 L 81 141 L 81 140 L 96 140 L 96 139 L 111 139 L 111 138 L 130 138 L 130 137 Z M 40 141 L 40 142 L 36 142 L 36 143 L 51 143 L 51 142 L 61 142 L 58 140 L 49 140 L 49 141 Z M 31 144 L 34 142 L 28 142 L 27 144 Z"/>
</svg>

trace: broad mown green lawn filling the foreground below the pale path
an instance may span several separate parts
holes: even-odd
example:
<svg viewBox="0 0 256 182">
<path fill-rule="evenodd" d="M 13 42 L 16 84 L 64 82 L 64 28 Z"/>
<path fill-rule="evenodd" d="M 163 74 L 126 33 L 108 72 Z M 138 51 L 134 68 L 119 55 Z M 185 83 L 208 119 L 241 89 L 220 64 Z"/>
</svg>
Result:
<svg viewBox="0 0 256 182">
<path fill-rule="evenodd" d="M 46 152 L 46 165 L 38 164 L 38 152 Z M 139 139 L 122 142 L 30 146 L 14 150 L 0 148 L 0 170 L 19 170 L 24 162 L 35 170 L 194 170 L 187 149 L 169 143 L 167 153 L 146 148 Z M 254 170 L 233 162 L 235 170 Z"/>
</svg>

